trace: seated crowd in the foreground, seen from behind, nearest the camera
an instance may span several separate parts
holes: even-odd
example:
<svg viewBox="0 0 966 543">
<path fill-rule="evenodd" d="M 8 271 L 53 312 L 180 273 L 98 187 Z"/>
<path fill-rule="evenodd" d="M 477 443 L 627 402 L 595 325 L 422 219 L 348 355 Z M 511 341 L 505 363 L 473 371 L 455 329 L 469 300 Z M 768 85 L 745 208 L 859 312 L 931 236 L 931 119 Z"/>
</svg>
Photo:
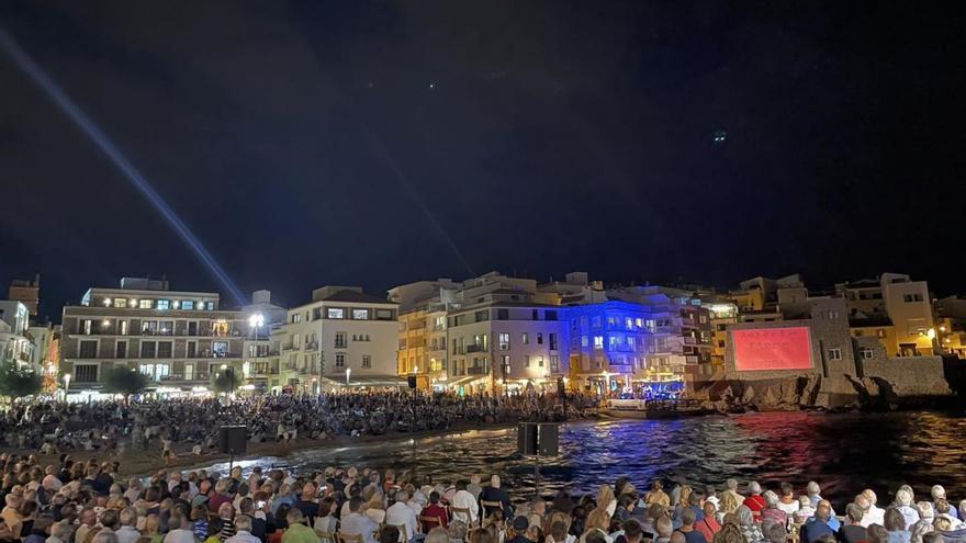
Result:
<svg viewBox="0 0 966 543">
<path fill-rule="evenodd" d="M 764 489 L 729 479 L 510 499 L 498 475 L 459 480 L 392 470 L 299 474 L 161 470 L 123 479 L 116 463 L 41 465 L 0 455 L 0 542 L 13 543 L 961 543 L 966 500 L 941 486 L 890 504 L 864 489 L 839 516 L 815 482 Z M 640 482 L 638 482 L 640 483 Z"/>
</svg>

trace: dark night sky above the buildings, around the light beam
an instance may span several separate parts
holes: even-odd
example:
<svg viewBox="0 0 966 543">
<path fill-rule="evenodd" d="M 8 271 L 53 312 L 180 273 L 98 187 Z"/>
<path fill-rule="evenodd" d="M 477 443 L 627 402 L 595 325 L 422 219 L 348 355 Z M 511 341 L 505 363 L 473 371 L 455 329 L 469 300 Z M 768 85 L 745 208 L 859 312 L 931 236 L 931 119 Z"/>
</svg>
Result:
<svg viewBox="0 0 966 543">
<path fill-rule="evenodd" d="M 0 3 L 243 292 L 547 279 L 964 286 L 962 4 Z M 224 289 L 0 56 L 0 282 Z M 716 145 L 715 134 L 727 132 Z"/>
</svg>

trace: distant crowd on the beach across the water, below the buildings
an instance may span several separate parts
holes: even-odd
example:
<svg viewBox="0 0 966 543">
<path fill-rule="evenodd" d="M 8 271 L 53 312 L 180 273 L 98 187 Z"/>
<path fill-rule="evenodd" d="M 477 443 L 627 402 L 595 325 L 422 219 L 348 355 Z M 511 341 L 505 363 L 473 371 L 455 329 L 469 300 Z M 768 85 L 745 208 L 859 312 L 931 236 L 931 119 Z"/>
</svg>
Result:
<svg viewBox="0 0 966 543">
<path fill-rule="evenodd" d="M 583 417 L 596 398 L 568 396 L 566 417 Z M 561 420 L 555 395 L 414 395 L 409 393 L 142 399 L 137 401 L 16 403 L 0 415 L 0 440 L 7 448 L 56 454 L 98 450 L 156 449 L 203 454 L 216 445 L 223 425 L 248 428 L 252 442 L 312 440 L 335 435 L 447 430 L 458 423 Z"/>
</svg>

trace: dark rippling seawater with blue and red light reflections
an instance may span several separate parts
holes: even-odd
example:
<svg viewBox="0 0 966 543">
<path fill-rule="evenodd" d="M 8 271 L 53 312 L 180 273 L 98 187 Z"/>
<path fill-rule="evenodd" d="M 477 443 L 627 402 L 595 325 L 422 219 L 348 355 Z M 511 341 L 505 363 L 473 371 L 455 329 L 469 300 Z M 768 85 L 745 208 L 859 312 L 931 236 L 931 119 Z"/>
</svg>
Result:
<svg viewBox="0 0 966 543">
<path fill-rule="evenodd" d="M 561 455 L 541 461 L 541 490 L 595 491 L 621 475 L 638 488 L 655 477 L 721 485 L 733 476 L 766 485 L 810 479 L 841 507 L 872 486 L 887 501 L 902 483 L 919 491 L 940 483 L 966 497 L 966 418 L 956 414 L 754 414 L 682 420 L 626 420 L 570 425 L 561 431 Z M 470 473 L 506 474 L 512 494 L 532 493 L 533 465 L 515 454 L 513 430 L 480 430 L 437 438 L 318 449 L 263 466 L 299 471 L 327 465 L 417 470 L 439 479 Z M 254 465 L 254 464 L 251 464 Z"/>
</svg>

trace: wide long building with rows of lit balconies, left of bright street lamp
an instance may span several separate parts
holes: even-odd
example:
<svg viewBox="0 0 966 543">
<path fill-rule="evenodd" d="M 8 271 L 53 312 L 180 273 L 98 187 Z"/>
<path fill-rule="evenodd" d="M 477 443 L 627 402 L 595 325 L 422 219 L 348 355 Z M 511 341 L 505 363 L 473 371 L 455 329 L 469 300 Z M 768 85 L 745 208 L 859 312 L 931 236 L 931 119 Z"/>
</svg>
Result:
<svg viewBox="0 0 966 543">
<path fill-rule="evenodd" d="M 79 305 L 64 307 L 60 373 L 71 375 L 71 393 L 88 394 L 117 366 L 171 394 L 203 388 L 222 369 L 240 373 L 247 316 L 220 304 L 217 293 L 172 291 L 167 281 L 142 278 L 91 287 Z"/>
</svg>

